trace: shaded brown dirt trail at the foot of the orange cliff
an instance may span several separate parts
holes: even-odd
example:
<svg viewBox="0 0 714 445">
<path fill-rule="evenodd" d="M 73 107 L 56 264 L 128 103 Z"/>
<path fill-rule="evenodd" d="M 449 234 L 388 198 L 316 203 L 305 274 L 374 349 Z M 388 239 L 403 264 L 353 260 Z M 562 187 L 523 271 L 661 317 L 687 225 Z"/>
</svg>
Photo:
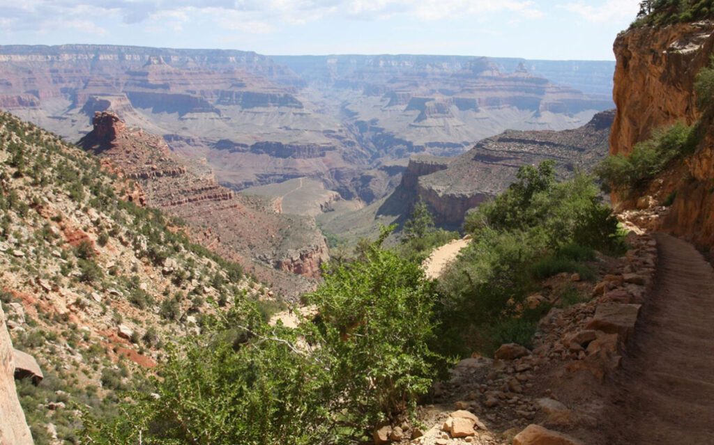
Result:
<svg viewBox="0 0 714 445">
<path fill-rule="evenodd" d="M 688 242 L 656 237 L 655 287 L 615 377 L 607 443 L 713 445 L 714 270 Z"/>
</svg>

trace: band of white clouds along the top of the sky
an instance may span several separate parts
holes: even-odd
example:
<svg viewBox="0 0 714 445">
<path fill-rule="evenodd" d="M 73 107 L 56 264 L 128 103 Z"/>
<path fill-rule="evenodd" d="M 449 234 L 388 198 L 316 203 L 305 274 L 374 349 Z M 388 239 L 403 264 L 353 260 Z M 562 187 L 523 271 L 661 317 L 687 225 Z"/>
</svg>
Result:
<svg viewBox="0 0 714 445">
<path fill-rule="evenodd" d="M 48 23 L 101 32 L 93 21 L 116 19 L 145 30 L 183 31 L 191 21 L 210 20 L 221 29 L 268 33 L 281 24 L 308 24 L 326 18 L 382 20 L 406 16 L 438 21 L 463 16 L 512 14 L 537 19 L 533 0 L 0 0 L 0 26 L 41 30 Z M 51 17 L 51 19 L 48 19 Z"/>
</svg>

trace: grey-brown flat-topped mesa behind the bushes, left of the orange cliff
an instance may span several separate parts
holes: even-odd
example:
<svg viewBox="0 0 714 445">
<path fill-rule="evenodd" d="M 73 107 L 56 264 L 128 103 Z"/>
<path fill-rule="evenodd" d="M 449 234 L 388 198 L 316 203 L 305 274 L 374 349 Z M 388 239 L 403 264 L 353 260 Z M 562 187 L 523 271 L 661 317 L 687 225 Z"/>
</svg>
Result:
<svg viewBox="0 0 714 445">
<path fill-rule="evenodd" d="M 613 111 L 598 113 L 575 130 L 506 131 L 438 168 L 410 163 L 402 183 L 429 205 L 437 223 L 458 226 L 468 210 L 516 180 L 521 165 L 552 159 L 563 177 L 592 168 L 608 151 L 613 117 Z"/>
</svg>

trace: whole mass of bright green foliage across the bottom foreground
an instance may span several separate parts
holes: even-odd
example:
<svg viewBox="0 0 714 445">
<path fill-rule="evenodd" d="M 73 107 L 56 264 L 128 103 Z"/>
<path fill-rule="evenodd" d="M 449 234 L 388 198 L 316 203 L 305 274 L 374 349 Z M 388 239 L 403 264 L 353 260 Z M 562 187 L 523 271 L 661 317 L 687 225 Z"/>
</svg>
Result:
<svg viewBox="0 0 714 445">
<path fill-rule="evenodd" d="M 386 236 L 386 233 L 385 233 Z M 433 286 L 383 250 L 334 265 L 316 292 L 316 322 L 271 327 L 250 307 L 171 349 L 156 395 L 89 418 L 94 444 L 344 444 L 408 415 L 443 360 L 433 341 Z"/>
</svg>

